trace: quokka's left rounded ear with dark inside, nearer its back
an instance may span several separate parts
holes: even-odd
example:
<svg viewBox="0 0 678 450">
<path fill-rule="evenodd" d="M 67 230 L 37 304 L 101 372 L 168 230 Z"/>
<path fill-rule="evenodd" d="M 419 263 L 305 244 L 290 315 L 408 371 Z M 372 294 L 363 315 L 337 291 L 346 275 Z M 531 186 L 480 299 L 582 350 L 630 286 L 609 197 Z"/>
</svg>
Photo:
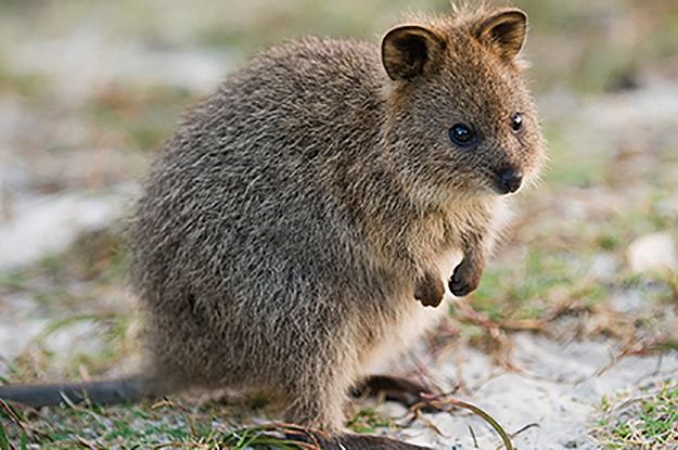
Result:
<svg viewBox="0 0 678 450">
<path fill-rule="evenodd" d="M 428 28 L 404 25 L 382 40 L 382 63 L 393 80 L 411 79 L 424 73 L 445 49 L 445 41 Z"/>
</svg>

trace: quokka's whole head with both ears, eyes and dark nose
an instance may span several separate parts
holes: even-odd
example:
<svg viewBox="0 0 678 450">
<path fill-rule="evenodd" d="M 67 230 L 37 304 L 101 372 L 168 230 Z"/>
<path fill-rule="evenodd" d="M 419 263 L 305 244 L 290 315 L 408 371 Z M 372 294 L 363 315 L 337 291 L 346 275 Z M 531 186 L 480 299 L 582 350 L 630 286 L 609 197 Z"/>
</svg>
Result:
<svg viewBox="0 0 678 450">
<path fill-rule="evenodd" d="M 526 29 L 516 9 L 456 10 L 383 38 L 385 139 L 418 195 L 506 195 L 536 178 L 542 138 L 517 56 Z"/>
</svg>

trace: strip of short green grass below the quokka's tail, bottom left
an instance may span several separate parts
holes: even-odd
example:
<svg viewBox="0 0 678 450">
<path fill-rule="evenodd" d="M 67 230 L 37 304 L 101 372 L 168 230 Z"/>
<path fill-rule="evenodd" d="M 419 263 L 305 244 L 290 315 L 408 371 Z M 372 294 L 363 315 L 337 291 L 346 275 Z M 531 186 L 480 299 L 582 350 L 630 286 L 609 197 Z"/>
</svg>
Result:
<svg viewBox="0 0 678 450">
<path fill-rule="evenodd" d="M 220 424 L 210 410 L 187 411 L 164 401 L 115 408 L 63 408 L 35 416 L 33 411 L 0 404 L 7 425 L 5 446 L 21 448 L 21 442 L 36 442 L 46 448 L 307 448 L 285 438 L 285 433 L 305 433 L 285 424 L 238 427 Z M 1 439 L 0 435 L 0 439 Z M 14 446 L 14 447 L 13 447 Z"/>
</svg>

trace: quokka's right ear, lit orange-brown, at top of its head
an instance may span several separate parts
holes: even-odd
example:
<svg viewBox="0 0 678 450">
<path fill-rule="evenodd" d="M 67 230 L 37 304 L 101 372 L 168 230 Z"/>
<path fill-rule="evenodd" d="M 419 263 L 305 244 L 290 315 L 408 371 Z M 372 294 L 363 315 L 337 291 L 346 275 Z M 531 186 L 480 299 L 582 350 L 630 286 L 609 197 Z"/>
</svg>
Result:
<svg viewBox="0 0 678 450">
<path fill-rule="evenodd" d="M 521 51 L 527 35 L 527 14 L 521 10 L 504 10 L 482 21 L 475 37 L 496 46 L 502 57 L 512 61 Z"/>
</svg>

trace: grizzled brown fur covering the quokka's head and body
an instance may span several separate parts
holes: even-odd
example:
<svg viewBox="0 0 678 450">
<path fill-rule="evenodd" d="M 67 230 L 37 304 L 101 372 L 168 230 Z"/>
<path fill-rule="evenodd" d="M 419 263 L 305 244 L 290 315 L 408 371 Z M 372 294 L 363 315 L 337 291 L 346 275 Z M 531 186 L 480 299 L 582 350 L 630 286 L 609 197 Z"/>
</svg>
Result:
<svg viewBox="0 0 678 450">
<path fill-rule="evenodd" d="M 500 173 L 536 176 L 523 21 L 484 8 L 422 18 L 381 52 L 289 42 L 192 111 L 130 227 L 150 376 L 263 389 L 286 420 L 341 435 L 349 388 L 439 316 L 423 305 L 440 304 L 440 261 L 463 256 L 452 292 L 477 286 Z M 477 145 L 450 141 L 456 123 Z"/>
</svg>

